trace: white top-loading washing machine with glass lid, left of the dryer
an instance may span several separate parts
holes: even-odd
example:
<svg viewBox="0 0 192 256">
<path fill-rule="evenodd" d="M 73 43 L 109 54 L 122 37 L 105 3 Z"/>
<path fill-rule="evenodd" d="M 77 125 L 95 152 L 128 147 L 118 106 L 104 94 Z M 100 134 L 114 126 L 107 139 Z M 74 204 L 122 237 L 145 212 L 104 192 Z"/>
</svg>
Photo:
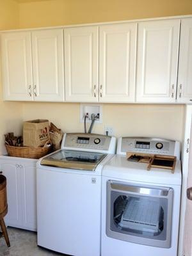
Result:
<svg viewBox="0 0 192 256">
<path fill-rule="evenodd" d="M 102 167 L 115 138 L 65 134 L 61 150 L 37 163 L 38 245 L 76 256 L 100 255 Z"/>
</svg>

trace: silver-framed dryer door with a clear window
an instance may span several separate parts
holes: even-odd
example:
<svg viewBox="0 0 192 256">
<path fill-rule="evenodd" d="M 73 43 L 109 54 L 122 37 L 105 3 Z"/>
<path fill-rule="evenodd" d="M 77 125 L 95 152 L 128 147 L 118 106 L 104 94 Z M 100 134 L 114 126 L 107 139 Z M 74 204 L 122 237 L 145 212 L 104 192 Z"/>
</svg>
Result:
<svg viewBox="0 0 192 256">
<path fill-rule="evenodd" d="M 171 246 L 173 189 L 109 180 L 109 237 L 162 248 Z"/>
</svg>

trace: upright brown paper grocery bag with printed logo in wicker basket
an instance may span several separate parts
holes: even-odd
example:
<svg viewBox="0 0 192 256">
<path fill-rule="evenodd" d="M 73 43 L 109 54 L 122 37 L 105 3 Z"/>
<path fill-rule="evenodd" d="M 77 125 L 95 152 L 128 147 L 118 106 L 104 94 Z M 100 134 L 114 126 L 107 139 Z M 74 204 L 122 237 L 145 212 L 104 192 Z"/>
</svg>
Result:
<svg viewBox="0 0 192 256">
<path fill-rule="evenodd" d="M 49 140 L 49 120 L 36 119 L 24 122 L 24 147 L 43 147 Z"/>
</svg>

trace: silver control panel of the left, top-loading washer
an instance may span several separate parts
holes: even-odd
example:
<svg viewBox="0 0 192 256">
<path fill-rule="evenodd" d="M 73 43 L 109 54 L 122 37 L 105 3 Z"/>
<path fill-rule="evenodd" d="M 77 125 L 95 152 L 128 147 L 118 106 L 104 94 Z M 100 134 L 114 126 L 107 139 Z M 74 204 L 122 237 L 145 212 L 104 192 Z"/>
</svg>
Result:
<svg viewBox="0 0 192 256">
<path fill-rule="evenodd" d="M 64 147 L 108 150 L 110 142 L 111 137 L 101 134 L 67 133 L 65 136 Z"/>
</svg>

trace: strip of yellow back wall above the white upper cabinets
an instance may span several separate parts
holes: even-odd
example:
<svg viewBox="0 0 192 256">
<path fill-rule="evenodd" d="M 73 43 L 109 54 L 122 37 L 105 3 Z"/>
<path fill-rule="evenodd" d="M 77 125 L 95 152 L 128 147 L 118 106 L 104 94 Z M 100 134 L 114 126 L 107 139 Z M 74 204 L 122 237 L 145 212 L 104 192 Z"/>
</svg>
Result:
<svg viewBox="0 0 192 256">
<path fill-rule="evenodd" d="M 192 13 L 191 0 L 51 0 L 20 4 L 20 28 Z"/>
</svg>

